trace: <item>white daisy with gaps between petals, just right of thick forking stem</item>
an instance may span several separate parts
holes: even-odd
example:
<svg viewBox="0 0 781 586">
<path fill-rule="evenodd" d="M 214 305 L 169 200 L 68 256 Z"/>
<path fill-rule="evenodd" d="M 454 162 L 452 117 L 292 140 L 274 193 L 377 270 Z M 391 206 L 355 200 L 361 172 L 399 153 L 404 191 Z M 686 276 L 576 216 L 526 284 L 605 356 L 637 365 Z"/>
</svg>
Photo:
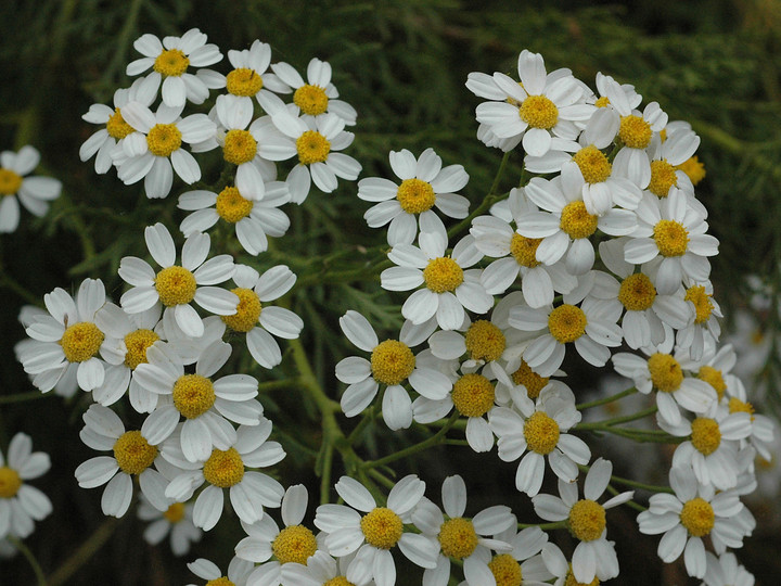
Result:
<svg viewBox="0 0 781 586">
<path fill-rule="evenodd" d="M 434 328 L 433 322 L 413 326 L 405 322 L 399 340 L 380 342 L 369 320 L 358 311 L 348 310 L 340 318 L 340 326 L 347 339 L 370 359 L 348 356 L 336 365 L 336 378 L 348 386 L 342 395 L 342 410 L 355 417 L 366 409 L 380 390 L 383 393 L 383 419 L 392 430 L 409 428 L 412 423 L 412 400 L 402 386 L 408 381 L 418 393 L 433 400 L 445 398 L 452 386 L 448 378 L 434 369 L 417 365 L 410 349 L 426 340 Z"/>
</svg>

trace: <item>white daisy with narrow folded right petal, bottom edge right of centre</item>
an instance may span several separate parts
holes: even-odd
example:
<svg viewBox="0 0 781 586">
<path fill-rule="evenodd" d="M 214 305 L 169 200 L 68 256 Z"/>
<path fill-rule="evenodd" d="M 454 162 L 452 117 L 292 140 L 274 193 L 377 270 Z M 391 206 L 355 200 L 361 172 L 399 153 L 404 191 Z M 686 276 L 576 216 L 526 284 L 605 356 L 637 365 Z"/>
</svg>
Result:
<svg viewBox="0 0 781 586">
<path fill-rule="evenodd" d="M 559 480 L 561 498 L 551 495 L 537 495 L 532 498 L 535 512 L 539 517 L 547 521 L 566 520 L 569 531 L 579 539 L 580 543 L 573 553 L 572 572 L 575 579 L 586 584 L 594 576 L 605 581 L 618 575 L 614 544 L 606 538 L 605 510 L 627 502 L 635 492 L 620 493 L 604 505 L 597 502 L 607 488 L 612 473 L 613 464 L 599 458 L 586 474 L 585 498 L 578 500 L 576 483 L 562 480 Z"/>
</svg>

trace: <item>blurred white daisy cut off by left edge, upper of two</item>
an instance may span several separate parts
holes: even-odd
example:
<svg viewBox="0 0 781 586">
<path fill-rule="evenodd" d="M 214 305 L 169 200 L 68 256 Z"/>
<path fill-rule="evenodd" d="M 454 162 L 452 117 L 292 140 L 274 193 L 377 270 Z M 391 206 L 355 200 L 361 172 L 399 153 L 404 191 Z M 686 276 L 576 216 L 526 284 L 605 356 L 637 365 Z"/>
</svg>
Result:
<svg viewBox="0 0 781 586">
<path fill-rule="evenodd" d="M 62 192 L 62 182 L 52 177 L 25 177 L 38 166 L 40 153 L 30 145 L 17 153 L 0 153 L 0 233 L 16 230 L 20 220 L 18 204 L 34 216 L 42 216 L 49 202 Z"/>
</svg>

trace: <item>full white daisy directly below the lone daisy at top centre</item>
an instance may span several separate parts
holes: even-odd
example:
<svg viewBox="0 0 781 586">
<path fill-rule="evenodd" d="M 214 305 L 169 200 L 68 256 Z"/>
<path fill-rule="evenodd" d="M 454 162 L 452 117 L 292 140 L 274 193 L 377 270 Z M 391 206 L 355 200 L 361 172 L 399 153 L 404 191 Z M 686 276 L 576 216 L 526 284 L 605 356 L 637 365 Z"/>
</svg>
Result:
<svg viewBox="0 0 781 586">
<path fill-rule="evenodd" d="M 448 238 L 444 230 L 421 232 L 419 246 L 399 244 L 388 253 L 396 267 L 382 271 L 382 288 L 387 291 L 410 291 L 401 315 L 412 323 L 423 323 L 436 316 L 443 330 L 460 327 L 466 313 L 485 314 L 494 306 L 494 296 L 479 282 L 479 269 L 464 270 L 477 264 L 483 254 L 474 245 L 474 237 L 461 239 L 446 256 Z"/>
</svg>

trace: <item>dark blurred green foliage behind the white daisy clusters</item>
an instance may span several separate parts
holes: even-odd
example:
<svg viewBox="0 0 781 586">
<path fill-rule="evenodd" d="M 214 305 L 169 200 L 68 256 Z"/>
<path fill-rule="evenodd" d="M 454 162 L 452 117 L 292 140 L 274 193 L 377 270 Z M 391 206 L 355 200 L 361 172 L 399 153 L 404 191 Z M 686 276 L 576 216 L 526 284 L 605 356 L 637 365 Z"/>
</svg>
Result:
<svg viewBox="0 0 781 586">
<path fill-rule="evenodd" d="M 78 160 L 79 145 L 95 130 L 81 115 L 92 103 L 111 103 L 113 92 L 129 85 L 125 66 L 139 56 L 132 41 L 144 33 L 162 37 L 199 27 L 223 54 L 260 39 L 271 44 L 273 62 L 289 62 L 300 72 L 313 56 L 329 61 L 341 97 L 359 113 L 348 152 L 363 165 L 361 177 L 388 176 L 390 150 L 406 148 L 418 154 L 433 146 L 446 165 L 465 166 L 471 181 L 464 194 L 473 204 L 487 193 L 500 153 L 475 138 L 478 100 L 464 87 L 470 72 L 515 75 L 517 53 L 527 48 L 542 53 L 548 71 L 569 67 L 591 87 L 599 71 L 633 84 L 643 103 L 658 101 L 670 119 L 690 122 L 702 137 L 697 154 L 707 176 L 697 196 L 710 213 L 710 232 L 721 241 L 712 278 L 727 321 L 732 308 L 745 304 L 747 275 L 761 276 L 777 296 L 781 259 L 781 3 L 777 0 L 8 0 L 0 3 L 0 22 L 5 24 L 0 37 L 0 149 L 33 144 L 42 155 L 38 173 L 64 183 L 63 196 L 48 216 L 36 219 L 23 211 L 20 229 L 0 238 L 0 397 L 33 391 L 12 349 L 24 336 L 16 321 L 23 304 L 40 304 L 55 286 L 73 291 L 87 277 L 102 278 L 110 295 L 118 300 L 121 281 L 116 268 L 123 256 L 144 254 L 143 226 L 162 220 L 174 229 L 181 221 L 175 208 L 176 196 L 184 191 L 181 183 L 175 183 L 164 202 L 150 202 L 140 184 L 126 187 L 113 173 L 97 176 L 91 161 Z M 214 66 L 223 73 L 228 67 L 227 58 Z M 218 177 L 217 163 L 217 158 L 212 167 L 206 163 L 205 181 Z M 515 184 L 521 163 L 520 154 L 511 155 L 511 173 L 502 189 Z M 341 186 L 331 195 L 312 193 L 300 208 L 287 206 L 292 230 L 281 241 L 284 244 L 261 255 L 256 266 L 285 262 L 302 275 L 317 275 L 321 267 L 332 269 L 342 262 L 359 267 L 364 256 L 371 260 L 366 249 L 381 243 L 379 233 L 370 233 L 362 219 L 367 207 L 356 198 L 355 184 Z M 342 256 L 333 258 L 335 253 Z M 377 298 L 383 295 L 379 279 L 315 281 L 316 277 L 307 277 L 299 283 L 293 303 L 307 323 L 305 341 L 322 384 L 337 396 L 341 387 L 332 365 L 348 352 L 337 317 L 356 308 L 371 314 L 375 327 L 387 328 L 389 335 L 400 320 L 394 308 L 377 305 L 385 301 Z M 779 328 L 778 316 L 770 311 L 767 319 L 772 333 Z M 282 375 L 285 368 L 283 364 L 271 377 Z M 25 431 L 36 449 L 52 456 L 52 470 L 35 485 L 52 498 L 54 513 L 27 539 L 29 547 L 48 573 L 60 572 L 53 584 L 191 581 L 183 561 L 175 559 L 166 545 L 151 548 L 141 540 L 142 527 L 132 514 L 118 523 L 106 521 L 100 512 L 100 491 L 76 486 L 73 470 L 93 455 L 78 441 L 80 415 L 87 406 L 79 399 L 63 403 L 47 396 L 0 403 L 0 445 L 5 448 L 13 433 Z M 298 454 L 283 462 L 281 473 L 289 484 L 310 482 L 311 454 L 320 433 L 317 411 L 297 397 L 274 395 L 261 400 L 276 426 L 295 424 L 303 430 L 296 444 L 292 438 L 285 444 L 289 453 Z M 411 430 L 398 445 L 414 440 L 417 433 Z M 284 437 L 280 441 L 285 443 Z M 383 455 L 394 442 L 388 434 L 367 436 L 360 449 Z M 523 515 L 528 502 L 512 491 L 513 467 L 490 457 L 496 471 L 476 474 L 483 460 L 475 463 L 463 451 L 443 448 L 417 463 L 419 469 L 428 467 L 428 496 L 437 494 L 440 477 L 460 472 L 474 505 L 482 505 L 484 493 L 486 505 L 496 504 L 487 493 L 503 483 L 510 488 L 507 504 Z M 402 472 L 399 467 L 398 473 Z M 316 494 L 312 486 L 317 484 L 310 483 L 310 495 Z M 687 584 L 679 568 L 662 568 L 655 556 L 656 538 L 638 536 L 632 518 L 633 513 L 616 514 L 611 528 L 624 563 L 614 582 Z M 235 525 L 225 528 L 220 523 L 188 561 L 205 556 L 227 565 Z M 755 536 L 739 557 L 760 583 L 774 584 L 781 570 L 778 547 L 777 533 L 759 518 Z M 0 564 L 2 584 L 31 583 L 22 557 Z M 642 575 L 637 572 L 640 568 Z"/>
</svg>

